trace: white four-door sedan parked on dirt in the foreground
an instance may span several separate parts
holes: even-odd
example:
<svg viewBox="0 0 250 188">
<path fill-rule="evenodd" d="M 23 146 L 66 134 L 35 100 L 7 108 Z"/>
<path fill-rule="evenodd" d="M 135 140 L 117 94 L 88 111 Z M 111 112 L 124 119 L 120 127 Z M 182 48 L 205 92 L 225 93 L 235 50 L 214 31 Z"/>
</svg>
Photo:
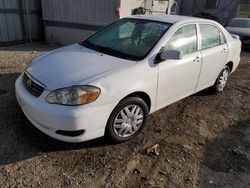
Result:
<svg viewBox="0 0 250 188">
<path fill-rule="evenodd" d="M 131 16 L 34 59 L 16 81 L 16 97 L 53 138 L 124 142 L 149 114 L 208 87 L 221 92 L 240 51 L 239 38 L 211 20 Z"/>
</svg>

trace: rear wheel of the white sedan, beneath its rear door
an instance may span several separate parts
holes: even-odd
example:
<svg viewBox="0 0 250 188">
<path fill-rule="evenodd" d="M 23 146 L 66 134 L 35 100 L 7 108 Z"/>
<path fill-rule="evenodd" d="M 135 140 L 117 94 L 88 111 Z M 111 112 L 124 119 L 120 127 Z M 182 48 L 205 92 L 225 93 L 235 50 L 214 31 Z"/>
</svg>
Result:
<svg viewBox="0 0 250 188">
<path fill-rule="evenodd" d="M 215 93 L 220 93 L 224 90 L 227 84 L 227 80 L 230 74 L 230 68 L 225 66 L 221 73 L 219 74 L 218 78 L 216 79 L 215 84 L 212 86 L 212 91 Z"/>
</svg>

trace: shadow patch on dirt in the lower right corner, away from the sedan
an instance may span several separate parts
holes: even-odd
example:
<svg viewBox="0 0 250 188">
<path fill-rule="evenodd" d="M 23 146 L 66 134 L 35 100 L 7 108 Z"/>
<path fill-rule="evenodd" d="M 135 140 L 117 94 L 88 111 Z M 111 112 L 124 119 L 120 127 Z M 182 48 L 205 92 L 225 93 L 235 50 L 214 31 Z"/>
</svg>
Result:
<svg viewBox="0 0 250 188">
<path fill-rule="evenodd" d="M 249 187 L 249 125 L 250 119 L 236 122 L 205 143 L 199 187 Z"/>
</svg>

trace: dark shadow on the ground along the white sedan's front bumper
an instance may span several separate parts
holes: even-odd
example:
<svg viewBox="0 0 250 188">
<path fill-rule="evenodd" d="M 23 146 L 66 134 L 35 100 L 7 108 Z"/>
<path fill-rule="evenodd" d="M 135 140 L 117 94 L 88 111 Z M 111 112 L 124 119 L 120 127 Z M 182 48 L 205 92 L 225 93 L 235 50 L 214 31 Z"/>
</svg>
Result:
<svg viewBox="0 0 250 188">
<path fill-rule="evenodd" d="M 18 73 L 0 74 L 0 166 L 51 151 L 112 145 L 104 137 L 83 143 L 66 143 L 43 134 L 27 120 L 16 101 L 14 85 L 18 76 Z"/>
</svg>

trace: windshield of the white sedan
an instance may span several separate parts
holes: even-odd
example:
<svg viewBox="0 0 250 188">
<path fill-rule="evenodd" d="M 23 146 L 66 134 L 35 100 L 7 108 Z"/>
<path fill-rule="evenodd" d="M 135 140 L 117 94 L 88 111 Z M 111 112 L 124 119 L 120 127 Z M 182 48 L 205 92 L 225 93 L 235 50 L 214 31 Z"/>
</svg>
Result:
<svg viewBox="0 0 250 188">
<path fill-rule="evenodd" d="M 148 55 L 170 25 L 165 22 L 124 18 L 79 44 L 119 58 L 141 60 Z"/>
</svg>

